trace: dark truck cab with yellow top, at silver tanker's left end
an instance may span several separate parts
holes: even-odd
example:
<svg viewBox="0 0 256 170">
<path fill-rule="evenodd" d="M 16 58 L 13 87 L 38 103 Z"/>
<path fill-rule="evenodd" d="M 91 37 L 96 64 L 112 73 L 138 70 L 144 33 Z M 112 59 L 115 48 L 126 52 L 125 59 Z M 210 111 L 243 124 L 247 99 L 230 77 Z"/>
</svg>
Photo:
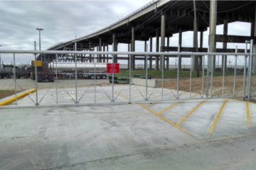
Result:
<svg viewBox="0 0 256 170">
<path fill-rule="evenodd" d="M 36 66 L 37 66 L 37 75 L 36 75 Z M 31 79 L 36 79 L 38 82 L 42 82 L 43 80 L 48 80 L 49 82 L 54 81 L 54 75 L 49 72 L 48 69 L 44 68 L 43 61 L 37 60 L 31 61 Z"/>
</svg>

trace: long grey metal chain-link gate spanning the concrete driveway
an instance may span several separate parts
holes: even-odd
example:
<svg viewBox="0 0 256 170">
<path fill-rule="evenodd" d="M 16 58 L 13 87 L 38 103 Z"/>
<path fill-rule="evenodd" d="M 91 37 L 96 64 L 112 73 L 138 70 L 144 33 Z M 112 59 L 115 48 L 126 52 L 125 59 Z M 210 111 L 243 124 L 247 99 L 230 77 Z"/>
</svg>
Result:
<svg viewBox="0 0 256 170">
<path fill-rule="evenodd" d="M 145 49 L 147 51 L 148 49 Z M 225 57 L 234 59 L 222 65 Z M 1 106 L 255 97 L 248 53 L 1 52 Z M 218 60 L 218 62 L 216 62 Z M 119 73 L 107 73 L 119 63 Z M 225 64 L 224 64 L 225 65 Z M 214 69 L 213 69 L 214 68 Z M 252 72 L 252 75 L 255 73 Z M 255 76 L 252 76 L 252 84 Z"/>
</svg>

